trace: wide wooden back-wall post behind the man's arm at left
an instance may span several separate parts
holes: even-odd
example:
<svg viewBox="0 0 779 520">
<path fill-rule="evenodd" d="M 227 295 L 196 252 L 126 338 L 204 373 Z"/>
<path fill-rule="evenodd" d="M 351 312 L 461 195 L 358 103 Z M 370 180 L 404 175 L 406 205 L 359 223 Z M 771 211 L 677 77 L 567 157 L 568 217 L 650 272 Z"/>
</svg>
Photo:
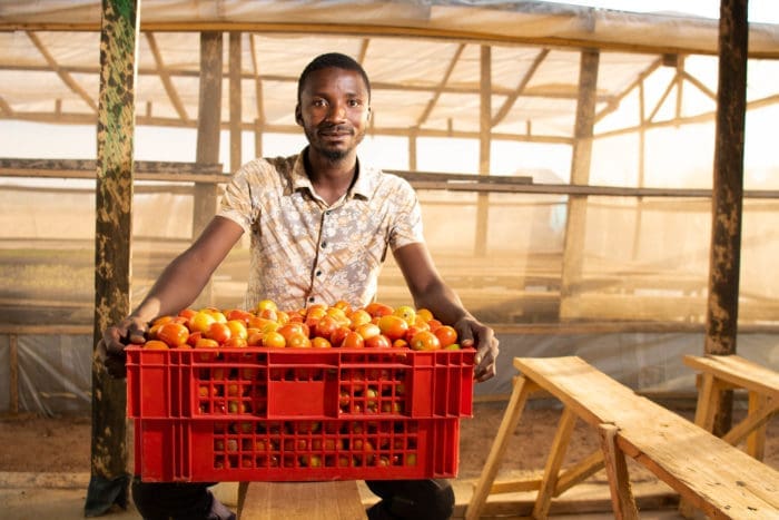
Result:
<svg viewBox="0 0 779 520">
<path fill-rule="evenodd" d="M 221 32 L 200 33 L 200 96 L 197 120 L 197 164 L 219 163 L 219 130 L 221 122 Z M 193 204 L 193 239 L 206 228 L 216 213 L 218 187 L 211 183 L 195 183 Z M 201 291 L 199 304 L 213 305 L 209 282 Z"/>
</svg>

